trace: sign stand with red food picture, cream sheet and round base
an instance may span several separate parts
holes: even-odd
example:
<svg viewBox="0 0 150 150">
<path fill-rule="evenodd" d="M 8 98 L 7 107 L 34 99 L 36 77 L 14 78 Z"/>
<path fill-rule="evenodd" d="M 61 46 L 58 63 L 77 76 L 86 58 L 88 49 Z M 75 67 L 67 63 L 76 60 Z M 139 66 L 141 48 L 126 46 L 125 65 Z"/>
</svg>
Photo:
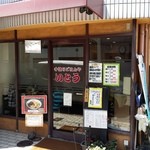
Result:
<svg viewBox="0 0 150 150">
<path fill-rule="evenodd" d="M 22 114 L 25 114 L 25 126 L 33 127 L 34 131 L 28 134 L 28 139 L 39 141 L 36 127 L 43 127 L 43 114 L 47 113 L 46 95 L 24 95 L 21 97 Z"/>
</svg>

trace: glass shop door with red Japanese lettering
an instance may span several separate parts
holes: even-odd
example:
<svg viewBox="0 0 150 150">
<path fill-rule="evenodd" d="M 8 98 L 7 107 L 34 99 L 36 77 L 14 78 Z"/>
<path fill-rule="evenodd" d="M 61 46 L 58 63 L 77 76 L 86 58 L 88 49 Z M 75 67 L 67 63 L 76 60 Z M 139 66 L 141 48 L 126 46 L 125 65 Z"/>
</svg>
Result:
<svg viewBox="0 0 150 150">
<path fill-rule="evenodd" d="M 84 42 L 55 41 L 52 45 L 53 134 L 57 132 L 57 137 L 66 139 L 83 127 Z"/>
</svg>

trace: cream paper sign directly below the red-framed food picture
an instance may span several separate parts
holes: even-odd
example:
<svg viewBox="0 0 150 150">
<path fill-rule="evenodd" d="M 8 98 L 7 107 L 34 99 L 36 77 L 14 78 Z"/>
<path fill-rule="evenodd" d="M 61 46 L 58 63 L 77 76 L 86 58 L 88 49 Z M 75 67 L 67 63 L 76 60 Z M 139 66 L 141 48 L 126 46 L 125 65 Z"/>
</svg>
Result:
<svg viewBox="0 0 150 150">
<path fill-rule="evenodd" d="M 43 127 L 43 114 L 25 115 L 25 125 L 27 127 Z"/>
</svg>

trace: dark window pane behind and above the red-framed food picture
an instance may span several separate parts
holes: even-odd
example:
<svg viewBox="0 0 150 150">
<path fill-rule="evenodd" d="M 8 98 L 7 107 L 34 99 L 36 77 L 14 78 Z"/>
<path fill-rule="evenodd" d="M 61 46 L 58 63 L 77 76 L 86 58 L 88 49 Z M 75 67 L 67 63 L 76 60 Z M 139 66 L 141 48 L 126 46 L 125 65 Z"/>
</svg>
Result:
<svg viewBox="0 0 150 150">
<path fill-rule="evenodd" d="M 35 42 L 36 43 L 36 42 Z M 35 44 L 34 43 L 34 44 Z M 21 116 L 22 95 L 47 95 L 48 89 L 48 47 L 47 41 L 41 41 L 38 46 L 25 50 L 25 42 L 19 42 L 19 116 Z M 33 44 L 33 45 L 34 45 Z"/>
</svg>

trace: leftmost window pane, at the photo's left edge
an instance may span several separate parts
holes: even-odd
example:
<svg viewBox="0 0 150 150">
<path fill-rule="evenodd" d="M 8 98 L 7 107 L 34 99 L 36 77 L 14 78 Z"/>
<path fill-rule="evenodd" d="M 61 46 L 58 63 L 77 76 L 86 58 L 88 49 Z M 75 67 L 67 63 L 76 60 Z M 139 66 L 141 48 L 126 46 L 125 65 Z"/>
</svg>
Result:
<svg viewBox="0 0 150 150">
<path fill-rule="evenodd" d="M 15 116 L 15 46 L 0 43 L 0 114 Z"/>
</svg>

